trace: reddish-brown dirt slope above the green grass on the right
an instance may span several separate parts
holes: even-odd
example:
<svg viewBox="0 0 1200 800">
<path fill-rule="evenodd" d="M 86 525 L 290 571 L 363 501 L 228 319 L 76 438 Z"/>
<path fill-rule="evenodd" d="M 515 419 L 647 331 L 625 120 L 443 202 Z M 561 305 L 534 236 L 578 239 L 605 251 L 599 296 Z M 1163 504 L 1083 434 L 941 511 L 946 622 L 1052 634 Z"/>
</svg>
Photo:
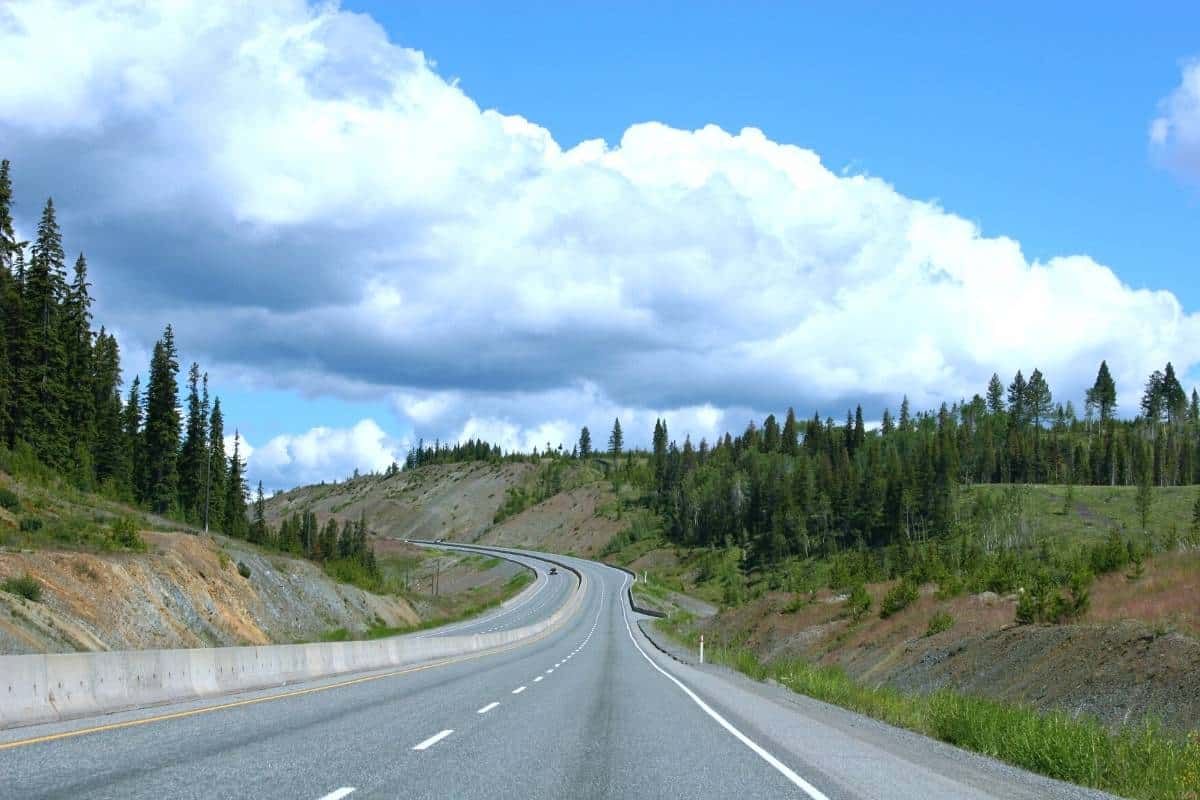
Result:
<svg viewBox="0 0 1200 800">
<path fill-rule="evenodd" d="M 772 593 L 701 625 L 762 657 L 836 664 L 874 685 L 952 687 L 1112 724 L 1152 715 L 1181 729 L 1200 726 L 1200 553 L 1160 557 L 1139 581 L 1106 576 L 1093 587 L 1092 612 L 1072 625 L 1015 625 L 1015 597 L 938 600 L 931 587 L 881 619 L 887 585 L 869 589 L 875 610 L 858 622 L 824 591 L 799 607 L 793 595 Z M 1147 606 L 1169 610 L 1148 618 Z M 929 634 L 937 612 L 953 626 Z"/>
</svg>

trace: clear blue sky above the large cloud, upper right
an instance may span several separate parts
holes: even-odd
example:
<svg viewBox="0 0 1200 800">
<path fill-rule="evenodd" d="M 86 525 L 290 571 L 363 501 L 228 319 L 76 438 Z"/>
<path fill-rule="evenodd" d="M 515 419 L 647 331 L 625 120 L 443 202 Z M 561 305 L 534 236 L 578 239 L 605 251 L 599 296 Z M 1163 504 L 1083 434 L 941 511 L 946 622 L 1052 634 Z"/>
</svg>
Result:
<svg viewBox="0 0 1200 800">
<path fill-rule="evenodd" d="M 919 7 L 917 7 L 919 6 Z M 1146 128 L 1200 4 L 349 2 L 564 145 L 635 122 L 762 128 L 1044 259 L 1200 306 L 1200 193 Z"/>
</svg>

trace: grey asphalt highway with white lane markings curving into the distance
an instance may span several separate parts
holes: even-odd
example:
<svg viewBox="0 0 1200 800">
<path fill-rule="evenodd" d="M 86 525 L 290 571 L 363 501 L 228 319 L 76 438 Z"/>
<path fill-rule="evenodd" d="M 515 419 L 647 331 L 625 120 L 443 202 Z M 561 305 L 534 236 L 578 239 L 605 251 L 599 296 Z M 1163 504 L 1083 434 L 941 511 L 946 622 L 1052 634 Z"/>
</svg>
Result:
<svg viewBox="0 0 1200 800">
<path fill-rule="evenodd" d="M 1104 796 L 678 663 L 638 627 L 626 573 L 554 558 L 587 576 L 587 595 L 535 642 L 0 732 L 0 796 Z M 475 625 L 548 616 L 575 587 L 570 573 L 539 582 Z"/>
</svg>

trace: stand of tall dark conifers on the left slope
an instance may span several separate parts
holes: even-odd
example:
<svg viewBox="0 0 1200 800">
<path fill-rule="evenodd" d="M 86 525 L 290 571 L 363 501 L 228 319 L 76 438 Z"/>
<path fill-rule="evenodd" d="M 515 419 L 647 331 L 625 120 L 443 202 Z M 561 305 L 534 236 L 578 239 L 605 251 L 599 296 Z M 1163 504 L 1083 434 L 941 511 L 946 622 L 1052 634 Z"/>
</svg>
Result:
<svg viewBox="0 0 1200 800">
<path fill-rule="evenodd" d="M 0 444 L 18 461 L 76 486 L 162 515 L 248 535 L 245 463 L 226 453 L 221 399 L 192 363 L 181 409 L 170 325 L 155 343 L 143 385 L 122 391 L 120 350 L 92 330 L 83 253 L 67 273 L 54 200 L 34 241 L 18 241 L 8 161 L 0 162 Z"/>
</svg>

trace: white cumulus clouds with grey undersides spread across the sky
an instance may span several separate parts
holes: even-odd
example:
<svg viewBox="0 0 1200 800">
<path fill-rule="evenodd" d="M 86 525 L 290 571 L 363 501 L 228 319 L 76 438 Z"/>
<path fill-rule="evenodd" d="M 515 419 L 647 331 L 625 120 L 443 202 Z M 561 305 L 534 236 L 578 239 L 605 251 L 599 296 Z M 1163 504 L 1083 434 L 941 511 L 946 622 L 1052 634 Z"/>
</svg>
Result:
<svg viewBox="0 0 1200 800">
<path fill-rule="evenodd" d="M 1195 314 L 1086 254 L 1031 260 L 756 128 L 564 150 L 332 4 L 16 0 L 0 74 L 22 76 L 0 83 L 18 193 L 54 192 L 100 318 L 142 347 L 169 319 L 257 385 L 386 396 L 427 440 L 875 419 L 1034 366 L 1078 402 L 1100 359 L 1132 408 L 1151 369 L 1200 361 Z M 1189 65 L 1154 124 L 1181 163 L 1198 85 Z M 256 469 L 390 461 L 378 426 L 347 435 L 282 437 Z"/>
</svg>

